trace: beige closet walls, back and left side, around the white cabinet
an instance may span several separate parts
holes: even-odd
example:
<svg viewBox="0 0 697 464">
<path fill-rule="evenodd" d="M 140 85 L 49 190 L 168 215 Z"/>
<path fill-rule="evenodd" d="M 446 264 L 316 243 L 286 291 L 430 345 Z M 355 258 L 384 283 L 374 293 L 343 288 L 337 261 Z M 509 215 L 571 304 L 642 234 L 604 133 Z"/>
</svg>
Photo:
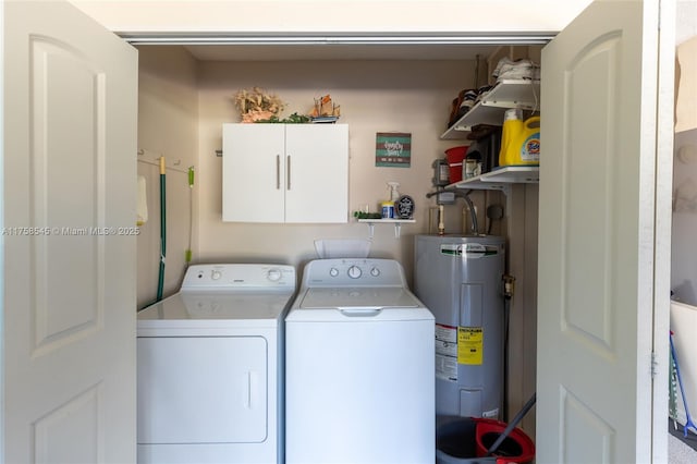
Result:
<svg viewBox="0 0 697 464">
<path fill-rule="evenodd" d="M 346 224 L 249 224 L 221 220 L 222 124 L 239 122 L 233 96 L 254 85 L 278 94 L 288 107 L 282 115 L 305 113 L 315 97 L 331 94 L 341 105 L 342 123 L 350 126 L 350 210 L 368 204 L 377 211 L 387 198 L 386 183 L 396 181 L 400 191 L 416 203 L 416 223 L 404 224 L 401 237 L 394 228 L 375 229 L 371 256 L 399 259 L 411 282 L 413 235 L 428 231 L 432 168 L 444 149 L 466 141 L 440 141 L 450 105 L 472 82 L 474 62 L 453 61 L 284 61 L 197 62 L 184 49 L 139 47 L 140 96 L 138 144 L 166 156 L 180 169 L 195 166 L 194 262 L 262 261 L 302 266 L 316 257 L 314 240 L 320 237 L 367 237 L 369 228 L 351 219 Z M 412 133 L 409 168 L 376 168 L 376 132 Z M 157 289 L 159 264 L 159 172 L 139 164 L 148 176 L 149 221 L 138 237 L 138 304 L 150 302 Z M 322 175 L 317 172 L 317 175 Z M 188 241 L 188 187 L 183 172 L 169 170 L 168 251 L 164 294 L 173 293 L 184 270 Z M 491 203 L 504 204 L 497 192 L 475 192 L 485 230 L 484 211 Z M 246 200 L 254 202 L 254 192 Z M 259 207 L 264 207 L 260 205 Z M 309 205 L 308 207 L 311 207 Z M 461 233 L 464 202 L 447 207 L 447 232 Z M 502 230 L 496 223 L 493 233 Z"/>
</svg>

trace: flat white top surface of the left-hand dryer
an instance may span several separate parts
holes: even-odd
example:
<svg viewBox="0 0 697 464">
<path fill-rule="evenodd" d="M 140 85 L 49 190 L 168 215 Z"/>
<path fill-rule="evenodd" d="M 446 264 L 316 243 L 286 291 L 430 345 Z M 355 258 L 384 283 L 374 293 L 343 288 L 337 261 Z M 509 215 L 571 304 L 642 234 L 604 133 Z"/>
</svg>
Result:
<svg viewBox="0 0 697 464">
<path fill-rule="evenodd" d="M 180 292 L 138 313 L 145 320 L 279 320 L 293 292 Z"/>
</svg>

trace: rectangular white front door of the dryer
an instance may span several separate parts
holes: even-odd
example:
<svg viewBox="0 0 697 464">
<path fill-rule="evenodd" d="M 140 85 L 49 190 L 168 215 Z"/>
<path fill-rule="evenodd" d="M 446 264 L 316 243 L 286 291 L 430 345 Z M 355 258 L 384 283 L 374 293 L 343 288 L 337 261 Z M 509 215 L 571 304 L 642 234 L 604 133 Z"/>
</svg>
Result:
<svg viewBox="0 0 697 464">
<path fill-rule="evenodd" d="M 138 443 L 267 439 L 261 337 L 138 338 Z"/>
</svg>

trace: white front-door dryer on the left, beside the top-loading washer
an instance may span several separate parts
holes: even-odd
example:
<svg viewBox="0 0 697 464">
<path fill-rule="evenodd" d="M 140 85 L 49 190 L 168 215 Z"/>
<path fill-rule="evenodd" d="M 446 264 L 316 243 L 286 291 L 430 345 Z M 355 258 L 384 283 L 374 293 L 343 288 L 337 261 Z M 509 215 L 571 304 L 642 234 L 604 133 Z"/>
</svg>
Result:
<svg viewBox="0 0 697 464">
<path fill-rule="evenodd" d="M 138 463 L 283 462 L 284 265 L 197 265 L 138 313 Z"/>
</svg>

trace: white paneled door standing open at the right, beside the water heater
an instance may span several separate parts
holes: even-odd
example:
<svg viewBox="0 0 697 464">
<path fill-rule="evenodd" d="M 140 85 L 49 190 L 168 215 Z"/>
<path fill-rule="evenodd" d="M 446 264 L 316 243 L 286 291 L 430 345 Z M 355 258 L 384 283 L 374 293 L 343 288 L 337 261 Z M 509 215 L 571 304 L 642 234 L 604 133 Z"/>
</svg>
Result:
<svg viewBox="0 0 697 464">
<path fill-rule="evenodd" d="M 599 1 L 542 52 L 538 463 L 667 460 L 671 38 Z"/>
</svg>

